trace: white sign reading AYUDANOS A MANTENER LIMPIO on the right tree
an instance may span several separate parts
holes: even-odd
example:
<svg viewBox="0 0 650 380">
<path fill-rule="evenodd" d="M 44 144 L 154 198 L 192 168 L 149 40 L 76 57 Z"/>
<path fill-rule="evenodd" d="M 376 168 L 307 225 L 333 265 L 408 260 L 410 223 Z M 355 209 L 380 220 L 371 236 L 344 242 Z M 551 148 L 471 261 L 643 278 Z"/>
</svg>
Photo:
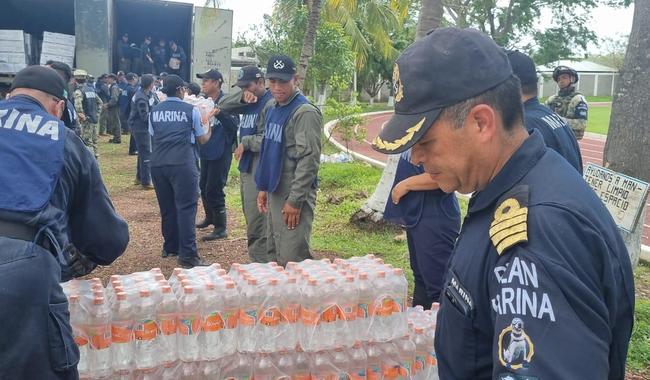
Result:
<svg viewBox="0 0 650 380">
<path fill-rule="evenodd" d="M 583 177 L 603 201 L 618 227 L 632 232 L 645 207 L 648 183 L 592 163 L 585 167 Z"/>
</svg>

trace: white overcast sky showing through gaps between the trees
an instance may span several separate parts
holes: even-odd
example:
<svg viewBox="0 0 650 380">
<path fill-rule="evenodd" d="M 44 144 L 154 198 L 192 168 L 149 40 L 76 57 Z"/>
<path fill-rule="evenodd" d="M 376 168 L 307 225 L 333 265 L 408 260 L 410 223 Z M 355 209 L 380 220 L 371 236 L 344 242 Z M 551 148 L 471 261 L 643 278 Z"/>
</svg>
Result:
<svg viewBox="0 0 650 380">
<path fill-rule="evenodd" d="M 205 0 L 180 0 L 204 5 Z M 250 26 L 260 24 L 265 13 L 270 14 L 273 0 L 220 0 L 220 6 L 233 10 L 233 39 Z M 594 10 L 591 28 L 599 38 L 629 35 L 632 28 L 633 6 L 623 9 L 599 7 Z M 548 24 L 549 17 L 542 17 L 540 23 Z M 589 47 L 590 52 L 597 52 L 596 46 Z"/>
</svg>

